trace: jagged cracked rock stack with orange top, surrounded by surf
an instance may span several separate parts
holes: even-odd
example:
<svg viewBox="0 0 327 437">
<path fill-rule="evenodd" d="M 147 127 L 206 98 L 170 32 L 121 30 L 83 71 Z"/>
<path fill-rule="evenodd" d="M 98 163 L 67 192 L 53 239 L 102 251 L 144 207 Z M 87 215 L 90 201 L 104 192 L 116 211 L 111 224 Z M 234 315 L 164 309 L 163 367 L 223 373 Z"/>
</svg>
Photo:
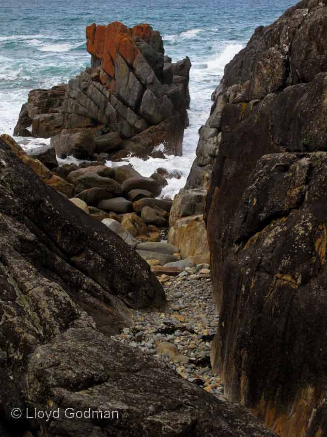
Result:
<svg viewBox="0 0 327 437">
<path fill-rule="evenodd" d="M 146 157 L 162 143 L 166 152 L 181 155 L 189 59 L 171 63 L 148 24 L 93 23 L 86 39 L 92 67 L 68 84 L 32 90 L 15 135 L 53 137 L 60 157 L 114 159 L 118 151 L 119 159 L 131 152 Z"/>
</svg>

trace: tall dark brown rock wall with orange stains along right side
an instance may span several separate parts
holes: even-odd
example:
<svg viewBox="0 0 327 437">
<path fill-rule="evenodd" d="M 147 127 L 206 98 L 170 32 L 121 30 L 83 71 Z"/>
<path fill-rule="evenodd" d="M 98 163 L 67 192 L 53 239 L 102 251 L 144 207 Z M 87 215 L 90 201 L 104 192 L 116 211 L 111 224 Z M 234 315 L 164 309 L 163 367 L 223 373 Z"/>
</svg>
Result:
<svg viewBox="0 0 327 437">
<path fill-rule="evenodd" d="M 227 397 L 282 437 L 327 435 L 326 29 L 326 0 L 256 29 L 225 68 L 188 180 L 203 185 L 199 156 L 217 156 L 212 363 Z"/>
</svg>

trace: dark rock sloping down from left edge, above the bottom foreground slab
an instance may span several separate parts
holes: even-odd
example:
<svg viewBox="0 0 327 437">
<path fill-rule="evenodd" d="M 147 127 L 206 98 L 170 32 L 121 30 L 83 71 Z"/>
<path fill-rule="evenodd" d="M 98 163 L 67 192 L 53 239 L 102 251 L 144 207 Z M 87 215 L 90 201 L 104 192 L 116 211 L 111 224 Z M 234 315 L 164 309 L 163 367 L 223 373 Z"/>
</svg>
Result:
<svg viewBox="0 0 327 437">
<path fill-rule="evenodd" d="M 0 398 L 1 421 L 18 435 L 22 423 L 10 411 L 14 400 L 26 411 L 30 353 L 69 327 L 119 333 L 132 325 L 129 308 L 163 311 L 166 299 L 148 264 L 44 184 L 7 138 L 0 137 Z"/>
</svg>

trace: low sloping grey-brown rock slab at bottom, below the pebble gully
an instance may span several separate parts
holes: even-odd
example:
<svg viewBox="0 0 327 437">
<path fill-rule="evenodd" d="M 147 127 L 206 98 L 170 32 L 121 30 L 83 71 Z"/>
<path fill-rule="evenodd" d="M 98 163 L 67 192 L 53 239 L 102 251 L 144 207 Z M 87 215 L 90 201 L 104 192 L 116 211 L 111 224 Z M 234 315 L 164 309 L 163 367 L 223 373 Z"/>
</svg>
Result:
<svg viewBox="0 0 327 437">
<path fill-rule="evenodd" d="M 49 399 L 60 408 L 59 420 L 41 422 L 45 437 L 276 437 L 243 408 L 92 329 L 69 329 L 39 347 L 27 381 L 33 408 Z M 116 410 L 119 419 L 65 419 L 66 408 Z"/>
</svg>

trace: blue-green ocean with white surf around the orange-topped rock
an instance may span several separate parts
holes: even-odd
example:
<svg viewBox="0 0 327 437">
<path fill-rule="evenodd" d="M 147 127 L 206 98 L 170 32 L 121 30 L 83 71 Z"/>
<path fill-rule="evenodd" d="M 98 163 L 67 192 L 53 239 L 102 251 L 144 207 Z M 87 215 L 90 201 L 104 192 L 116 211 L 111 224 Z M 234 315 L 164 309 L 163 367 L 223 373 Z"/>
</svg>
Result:
<svg viewBox="0 0 327 437">
<path fill-rule="evenodd" d="M 0 133 L 13 134 L 29 90 L 67 82 L 90 65 L 86 25 L 114 20 L 128 26 L 150 23 L 162 35 L 173 61 L 185 56 L 191 60 L 190 126 L 182 157 L 130 158 L 130 162 L 143 176 L 158 167 L 180 170 L 183 177 L 169 180 L 162 193 L 173 197 L 186 183 L 198 130 L 209 116 L 211 93 L 224 66 L 257 26 L 270 24 L 294 4 L 294 0 L 0 0 Z M 40 143 L 49 139 L 33 139 L 25 147 Z"/>
</svg>

